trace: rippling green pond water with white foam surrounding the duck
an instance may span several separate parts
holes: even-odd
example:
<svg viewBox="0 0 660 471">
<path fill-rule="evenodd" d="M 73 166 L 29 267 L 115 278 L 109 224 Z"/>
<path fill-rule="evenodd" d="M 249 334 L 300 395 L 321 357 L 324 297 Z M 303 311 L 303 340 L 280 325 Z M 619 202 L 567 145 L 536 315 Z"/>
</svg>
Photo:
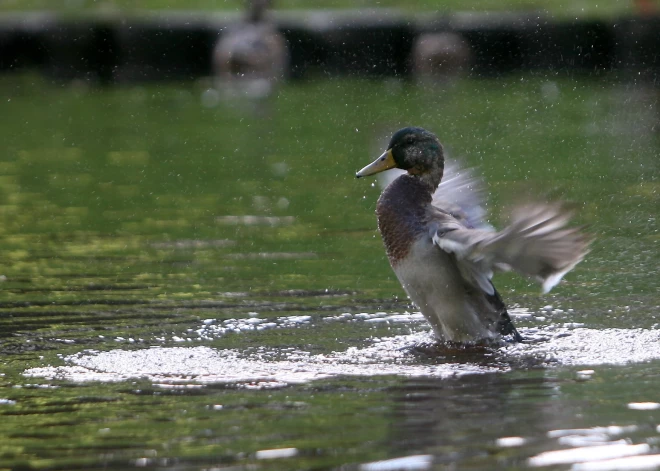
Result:
<svg viewBox="0 0 660 471">
<path fill-rule="evenodd" d="M 653 88 L 0 89 L 0 468 L 660 467 Z M 354 172 L 408 124 L 496 226 L 524 195 L 595 235 L 549 295 L 497 277 L 527 344 L 438 347 L 405 299 Z"/>
</svg>

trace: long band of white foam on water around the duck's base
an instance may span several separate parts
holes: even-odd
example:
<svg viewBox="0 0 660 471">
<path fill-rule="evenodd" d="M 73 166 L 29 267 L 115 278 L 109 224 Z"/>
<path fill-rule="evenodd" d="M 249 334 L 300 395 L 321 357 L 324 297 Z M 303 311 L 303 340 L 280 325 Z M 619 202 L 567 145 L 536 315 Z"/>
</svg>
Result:
<svg viewBox="0 0 660 471">
<path fill-rule="evenodd" d="M 258 326 L 247 322 L 245 325 Z M 291 327 L 311 320 L 286 318 Z M 511 361 L 532 358 L 538 364 L 622 365 L 660 359 L 660 330 L 548 328 L 542 341 L 503 345 L 491 365 L 468 362 L 420 362 L 411 353 L 415 345 L 430 344 L 428 332 L 374 339 L 364 348 L 349 347 L 330 354 L 292 349 L 232 349 L 152 347 L 142 350 L 83 351 L 64 358 L 65 365 L 31 368 L 29 377 L 60 378 L 76 382 L 123 381 L 145 378 L 154 382 L 250 383 L 281 386 L 339 375 L 449 377 L 469 373 L 508 371 Z M 446 361 L 446 360 L 445 360 Z M 634 406 L 633 406 L 634 407 Z M 591 438 L 586 439 L 591 440 Z"/>
</svg>

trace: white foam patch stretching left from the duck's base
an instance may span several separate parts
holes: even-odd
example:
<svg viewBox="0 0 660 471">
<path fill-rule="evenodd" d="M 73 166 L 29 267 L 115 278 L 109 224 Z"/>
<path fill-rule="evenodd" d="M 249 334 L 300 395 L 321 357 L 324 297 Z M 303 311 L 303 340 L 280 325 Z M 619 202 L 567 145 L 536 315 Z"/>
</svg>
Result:
<svg viewBox="0 0 660 471">
<path fill-rule="evenodd" d="M 471 364 L 415 364 L 406 347 L 429 341 L 427 333 L 379 339 L 366 348 L 312 355 L 300 350 L 266 350 L 246 354 L 209 347 L 153 347 L 142 350 L 83 351 L 64 358 L 65 366 L 32 368 L 25 376 L 84 381 L 251 383 L 279 386 L 339 375 L 449 377 L 499 371 Z"/>
</svg>

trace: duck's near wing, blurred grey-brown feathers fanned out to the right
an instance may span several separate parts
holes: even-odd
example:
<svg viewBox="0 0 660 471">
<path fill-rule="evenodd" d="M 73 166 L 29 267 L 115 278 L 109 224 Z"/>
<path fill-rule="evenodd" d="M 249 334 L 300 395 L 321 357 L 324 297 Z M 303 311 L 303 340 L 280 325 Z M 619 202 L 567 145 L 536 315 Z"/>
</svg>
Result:
<svg viewBox="0 0 660 471">
<path fill-rule="evenodd" d="M 547 293 L 589 251 L 590 236 L 566 227 L 570 218 L 571 212 L 559 204 L 528 204 L 513 211 L 508 227 L 494 232 L 469 229 L 440 214 L 433 216 L 431 237 L 440 249 L 456 256 L 466 280 L 488 294 L 494 293 L 493 270 L 530 276 Z"/>
</svg>

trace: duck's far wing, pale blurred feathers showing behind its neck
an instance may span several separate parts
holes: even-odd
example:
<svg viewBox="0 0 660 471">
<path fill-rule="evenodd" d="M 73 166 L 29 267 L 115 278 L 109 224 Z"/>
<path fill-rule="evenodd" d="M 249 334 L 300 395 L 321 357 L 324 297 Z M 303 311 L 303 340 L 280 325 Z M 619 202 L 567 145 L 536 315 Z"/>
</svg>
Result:
<svg viewBox="0 0 660 471">
<path fill-rule="evenodd" d="M 403 175 L 405 170 L 391 169 L 378 175 L 382 188 Z M 442 182 L 433 193 L 433 206 L 451 213 L 473 229 L 492 230 L 492 226 L 485 222 L 484 209 L 484 183 L 477 176 L 475 169 L 464 168 L 455 160 L 445 164 Z"/>
</svg>

